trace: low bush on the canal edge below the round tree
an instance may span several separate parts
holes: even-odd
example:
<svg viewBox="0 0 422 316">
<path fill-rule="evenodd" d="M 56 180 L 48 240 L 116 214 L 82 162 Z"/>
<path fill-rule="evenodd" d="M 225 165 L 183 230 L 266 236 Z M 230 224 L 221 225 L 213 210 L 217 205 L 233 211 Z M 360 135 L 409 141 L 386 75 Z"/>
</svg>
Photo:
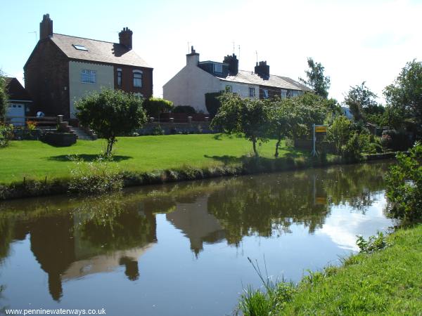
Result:
<svg viewBox="0 0 422 316">
<path fill-rule="evenodd" d="M 69 192 L 87 195 L 120 191 L 123 188 L 122 174 L 99 156 L 93 162 L 84 162 L 79 157 L 70 157 L 75 163 L 70 170 Z"/>
</svg>

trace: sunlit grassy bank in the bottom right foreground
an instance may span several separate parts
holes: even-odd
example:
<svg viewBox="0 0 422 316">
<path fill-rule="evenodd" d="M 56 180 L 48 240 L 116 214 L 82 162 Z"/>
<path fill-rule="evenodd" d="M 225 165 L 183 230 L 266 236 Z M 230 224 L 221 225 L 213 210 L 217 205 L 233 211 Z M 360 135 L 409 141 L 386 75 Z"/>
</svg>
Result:
<svg viewBox="0 0 422 316">
<path fill-rule="evenodd" d="M 386 249 L 357 254 L 343 267 L 326 268 L 297 286 L 280 283 L 272 299 L 243 299 L 245 315 L 421 315 L 422 225 L 400 229 Z M 252 311 L 255 309 L 255 313 Z M 271 314 L 271 315 L 273 315 Z"/>
</svg>

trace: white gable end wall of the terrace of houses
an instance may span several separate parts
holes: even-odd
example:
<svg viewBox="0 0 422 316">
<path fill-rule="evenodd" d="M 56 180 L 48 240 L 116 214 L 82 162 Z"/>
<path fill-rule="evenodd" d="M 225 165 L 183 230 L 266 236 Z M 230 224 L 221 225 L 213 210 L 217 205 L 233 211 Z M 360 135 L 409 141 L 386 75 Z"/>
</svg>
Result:
<svg viewBox="0 0 422 316">
<path fill-rule="evenodd" d="M 205 93 L 222 90 L 220 80 L 188 63 L 170 81 L 162 86 L 162 96 L 174 105 L 191 105 L 198 112 L 207 113 Z"/>
</svg>

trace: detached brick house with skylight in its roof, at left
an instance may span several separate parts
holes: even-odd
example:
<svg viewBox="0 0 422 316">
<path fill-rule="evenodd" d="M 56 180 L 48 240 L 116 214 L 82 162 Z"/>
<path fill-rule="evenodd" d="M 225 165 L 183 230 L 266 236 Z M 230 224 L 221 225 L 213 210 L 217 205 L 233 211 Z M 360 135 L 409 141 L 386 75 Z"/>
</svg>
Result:
<svg viewBox="0 0 422 316">
<path fill-rule="evenodd" d="M 119 43 L 53 33 L 46 14 L 39 41 L 23 67 L 33 111 L 75 118 L 75 100 L 101 88 L 118 88 L 149 98 L 153 68 L 132 50 L 132 31 L 124 27 Z"/>
</svg>

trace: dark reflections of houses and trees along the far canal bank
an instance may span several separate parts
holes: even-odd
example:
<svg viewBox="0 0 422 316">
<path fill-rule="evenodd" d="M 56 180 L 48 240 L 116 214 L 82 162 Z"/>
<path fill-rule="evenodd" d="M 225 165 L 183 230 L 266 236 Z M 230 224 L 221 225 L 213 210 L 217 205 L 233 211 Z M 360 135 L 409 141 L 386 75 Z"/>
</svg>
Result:
<svg viewBox="0 0 422 316">
<path fill-rule="evenodd" d="M 11 244 L 29 236 L 30 251 L 47 273 L 55 301 L 65 295 L 63 282 L 87 275 L 122 269 L 127 279 L 136 282 L 143 276 L 140 258 L 160 242 L 158 213 L 165 213 L 166 220 L 186 236 L 197 259 L 205 244 L 239 246 L 245 237 L 292 235 L 298 226 L 306 228 L 307 234 L 325 234 L 340 247 L 353 249 L 354 233 L 362 225 L 371 225 L 366 211 L 375 204 L 383 217 L 383 205 L 377 203 L 383 198 L 386 166 L 223 178 L 90 199 L 4 202 L 0 204 L 0 272 L 1 263 L 11 256 Z M 355 215 L 345 216 L 337 206 Z"/>
</svg>

